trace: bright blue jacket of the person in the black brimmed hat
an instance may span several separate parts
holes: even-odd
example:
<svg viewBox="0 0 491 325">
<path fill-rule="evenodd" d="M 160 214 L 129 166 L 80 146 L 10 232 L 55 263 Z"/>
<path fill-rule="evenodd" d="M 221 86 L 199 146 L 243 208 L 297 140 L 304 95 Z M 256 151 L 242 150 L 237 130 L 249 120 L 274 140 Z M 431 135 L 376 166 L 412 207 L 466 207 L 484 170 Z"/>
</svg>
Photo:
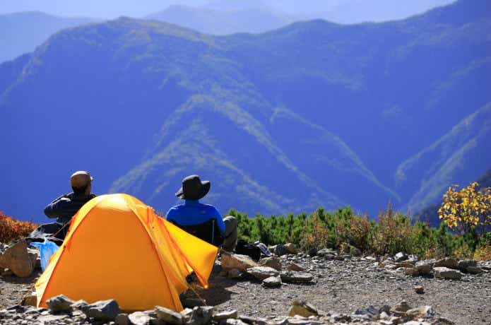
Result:
<svg viewBox="0 0 491 325">
<path fill-rule="evenodd" d="M 225 234 L 225 223 L 222 215 L 214 207 L 199 201 L 184 201 L 184 204 L 173 206 L 167 211 L 167 220 L 174 221 L 179 225 L 199 225 L 206 223 L 210 219 L 215 219 L 222 234 Z"/>
</svg>

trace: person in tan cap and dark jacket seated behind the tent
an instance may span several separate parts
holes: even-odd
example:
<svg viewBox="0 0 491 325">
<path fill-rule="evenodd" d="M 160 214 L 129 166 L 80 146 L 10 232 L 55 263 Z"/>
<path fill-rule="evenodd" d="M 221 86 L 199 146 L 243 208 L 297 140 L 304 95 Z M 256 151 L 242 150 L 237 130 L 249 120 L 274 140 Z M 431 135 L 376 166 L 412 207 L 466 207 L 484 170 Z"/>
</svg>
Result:
<svg viewBox="0 0 491 325">
<path fill-rule="evenodd" d="M 67 224 L 70 223 L 73 215 L 76 215 L 85 203 L 95 198 L 95 194 L 90 193 L 92 181 L 93 177 L 90 176 L 89 172 L 81 170 L 73 173 L 70 177 L 73 192 L 60 196 L 45 208 L 45 215 L 48 218 L 57 218 L 57 222 L 40 225 L 39 228 L 31 232 L 28 238 L 31 240 L 35 238 L 44 239 L 54 235 L 53 239 L 64 240 L 69 228 Z"/>
</svg>

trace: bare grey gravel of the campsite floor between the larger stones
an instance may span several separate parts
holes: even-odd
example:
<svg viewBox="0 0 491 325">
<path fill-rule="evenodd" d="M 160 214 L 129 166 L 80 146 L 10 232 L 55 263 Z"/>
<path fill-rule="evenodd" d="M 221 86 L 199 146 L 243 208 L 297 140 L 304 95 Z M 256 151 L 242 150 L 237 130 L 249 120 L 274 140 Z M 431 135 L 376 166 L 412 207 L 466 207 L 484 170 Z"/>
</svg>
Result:
<svg viewBox="0 0 491 325">
<path fill-rule="evenodd" d="M 309 257 L 285 256 L 315 276 L 313 284 L 283 284 L 264 288 L 251 278 L 227 279 L 215 266 L 208 290 L 198 294 L 218 310 L 237 309 L 254 317 L 288 314 L 294 299 L 306 300 L 324 311 L 350 313 L 355 309 L 395 305 L 406 300 L 412 307 L 431 305 L 439 314 L 456 324 L 491 324 L 491 273 L 466 274 L 461 280 L 437 280 L 432 277 L 406 276 L 374 266 L 374 261 L 353 258 L 349 261 L 314 261 Z M 37 277 L 0 278 L 0 309 L 16 305 L 32 290 Z M 419 295 L 414 285 L 422 285 Z M 194 293 L 189 292 L 189 297 Z"/>
</svg>

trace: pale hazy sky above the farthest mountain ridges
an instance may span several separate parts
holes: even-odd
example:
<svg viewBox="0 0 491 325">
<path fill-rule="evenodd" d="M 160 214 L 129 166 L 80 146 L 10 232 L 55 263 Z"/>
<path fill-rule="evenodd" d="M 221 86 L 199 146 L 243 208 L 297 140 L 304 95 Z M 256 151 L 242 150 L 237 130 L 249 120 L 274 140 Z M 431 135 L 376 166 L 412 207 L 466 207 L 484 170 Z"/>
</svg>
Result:
<svg viewBox="0 0 491 325">
<path fill-rule="evenodd" d="M 234 9 L 269 7 L 289 15 L 340 22 L 400 19 L 454 0 L 0 0 L 0 13 L 44 11 L 58 16 L 143 17 L 170 4 Z M 344 21 L 343 21 L 344 20 Z"/>
</svg>

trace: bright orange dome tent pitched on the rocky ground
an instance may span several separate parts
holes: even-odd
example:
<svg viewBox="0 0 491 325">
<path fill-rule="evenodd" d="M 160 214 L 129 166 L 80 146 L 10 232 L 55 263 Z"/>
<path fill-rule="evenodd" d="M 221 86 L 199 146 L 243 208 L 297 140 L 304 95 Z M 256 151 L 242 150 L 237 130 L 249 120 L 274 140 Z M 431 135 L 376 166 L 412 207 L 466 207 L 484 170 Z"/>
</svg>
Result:
<svg viewBox="0 0 491 325">
<path fill-rule="evenodd" d="M 133 196 L 97 196 L 73 216 L 60 249 L 37 280 L 37 306 L 66 295 L 114 298 L 124 310 L 182 310 L 179 294 L 196 273 L 208 288 L 218 248 L 155 215 Z"/>
</svg>

